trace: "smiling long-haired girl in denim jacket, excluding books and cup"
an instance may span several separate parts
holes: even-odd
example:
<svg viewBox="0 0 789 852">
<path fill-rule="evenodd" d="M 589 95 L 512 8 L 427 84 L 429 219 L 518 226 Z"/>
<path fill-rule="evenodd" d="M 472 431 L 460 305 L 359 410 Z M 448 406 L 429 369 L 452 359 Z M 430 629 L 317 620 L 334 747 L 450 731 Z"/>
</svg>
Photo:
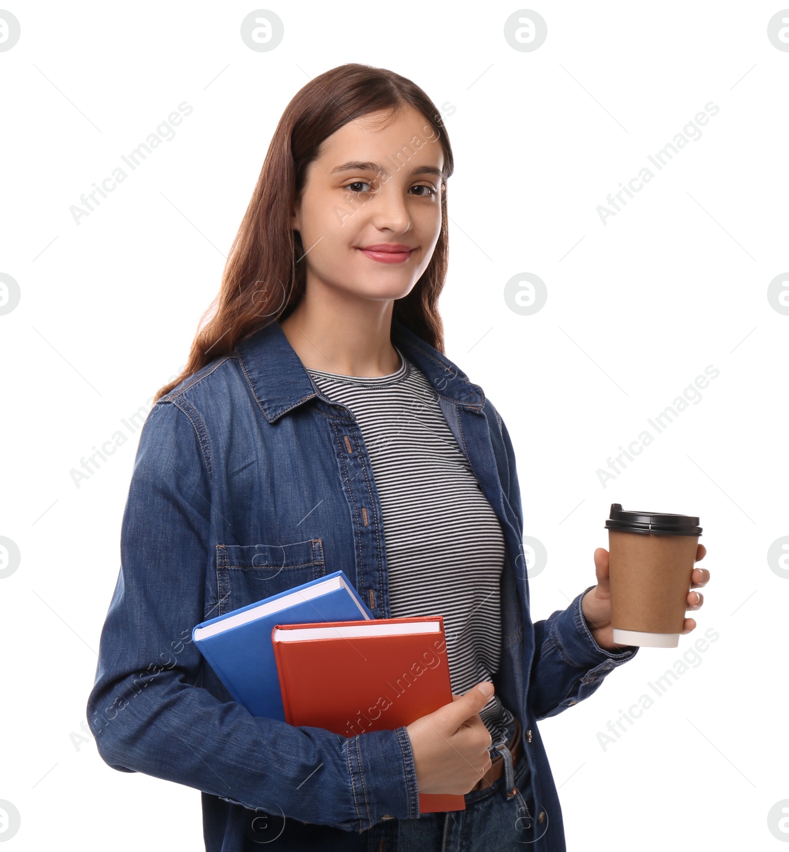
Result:
<svg viewBox="0 0 789 852">
<path fill-rule="evenodd" d="M 452 168 L 410 80 L 308 83 L 142 430 L 89 720 L 115 769 L 202 792 L 209 852 L 561 852 L 537 721 L 637 651 L 612 641 L 602 548 L 596 584 L 531 620 L 510 436 L 443 352 Z M 227 694 L 193 626 L 341 568 L 376 618 L 443 616 L 452 703 L 346 739 Z M 419 793 L 466 807 L 420 815 Z"/>
</svg>

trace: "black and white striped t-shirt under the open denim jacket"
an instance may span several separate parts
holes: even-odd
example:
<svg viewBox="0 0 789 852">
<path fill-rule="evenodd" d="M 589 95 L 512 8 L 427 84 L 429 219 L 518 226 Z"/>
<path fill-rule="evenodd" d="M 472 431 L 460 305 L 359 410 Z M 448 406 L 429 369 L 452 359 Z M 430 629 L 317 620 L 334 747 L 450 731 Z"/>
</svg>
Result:
<svg viewBox="0 0 789 852">
<path fill-rule="evenodd" d="M 400 369 L 388 376 L 308 373 L 354 413 L 370 453 L 392 617 L 443 616 L 452 692 L 461 695 L 498 671 L 504 536 L 427 377 L 397 352 Z M 497 742 L 498 695 L 480 715 Z"/>
</svg>

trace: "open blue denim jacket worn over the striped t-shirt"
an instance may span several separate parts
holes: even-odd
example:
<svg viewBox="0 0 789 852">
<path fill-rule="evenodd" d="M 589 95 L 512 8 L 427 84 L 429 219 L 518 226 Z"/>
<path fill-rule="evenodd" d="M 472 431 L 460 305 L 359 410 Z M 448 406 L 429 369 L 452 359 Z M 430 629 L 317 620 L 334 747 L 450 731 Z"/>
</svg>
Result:
<svg viewBox="0 0 789 852">
<path fill-rule="evenodd" d="M 637 649 L 596 644 L 581 610 L 594 586 L 532 622 L 506 426 L 481 387 L 437 349 L 397 320 L 391 338 L 435 389 L 504 532 L 501 664 L 492 679 L 521 721 L 523 794 L 550 820 L 533 849 L 562 852 L 562 813 L 537 722 L 589 697 Z M 391 617 L 381 505 L 359 424 L 314 385 L 274 321 L 147 416 L 88 701 L 96 745 L 112 768 L 202 791 L 209 852 L 240 852 L 250 810 L 348 832 L 418 818 L 406 728 L 346 739 L 253 717 L 191 642 L 204 619 L 340 568 L 376 618 Z"/>
</svg>

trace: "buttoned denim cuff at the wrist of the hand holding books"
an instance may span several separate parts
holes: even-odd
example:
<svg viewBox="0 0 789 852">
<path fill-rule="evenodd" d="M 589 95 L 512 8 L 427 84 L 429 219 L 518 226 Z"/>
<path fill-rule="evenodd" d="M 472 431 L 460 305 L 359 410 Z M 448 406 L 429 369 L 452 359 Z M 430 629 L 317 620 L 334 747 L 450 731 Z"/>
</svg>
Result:
<svg viewBox="0 0 789 852">
<path fill-rule="evenodd" d="M 405 727 L 348 738 L 348 770 L 360 830 L 419 816 L 417 772 Z"/>
</svg>

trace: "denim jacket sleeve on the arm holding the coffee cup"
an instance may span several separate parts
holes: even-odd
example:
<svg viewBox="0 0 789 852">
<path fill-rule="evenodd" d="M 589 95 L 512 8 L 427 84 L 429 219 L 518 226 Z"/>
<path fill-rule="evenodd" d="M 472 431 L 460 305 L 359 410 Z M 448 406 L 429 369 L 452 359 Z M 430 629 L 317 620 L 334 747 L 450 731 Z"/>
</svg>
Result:
<svg viewBox="0 0 789 852">
<path fill-rule="evenodd" d="M 510 505 L 517 515 L 519 532 L 523 529 L 521 490 L 515 467 L 515 450 L 510 433 L 498 412 L 495 413 L 504 440 L 507 470 L 502 481 Z M 528 584 L 528 578 L 526 578 Z M 638 648 L 630 646 L 613 653 L 601 648 L 586 625 L 581 602 L 594 589 L 590 585 L 567 609 L 551 613 L 534 622 L 534 656 L 529 678 L 529 701 L 538 719 L 558 713 L 588 698 L 600 687 L 603 678 L 618 665 L 633 659 Z"/>
</svg>

